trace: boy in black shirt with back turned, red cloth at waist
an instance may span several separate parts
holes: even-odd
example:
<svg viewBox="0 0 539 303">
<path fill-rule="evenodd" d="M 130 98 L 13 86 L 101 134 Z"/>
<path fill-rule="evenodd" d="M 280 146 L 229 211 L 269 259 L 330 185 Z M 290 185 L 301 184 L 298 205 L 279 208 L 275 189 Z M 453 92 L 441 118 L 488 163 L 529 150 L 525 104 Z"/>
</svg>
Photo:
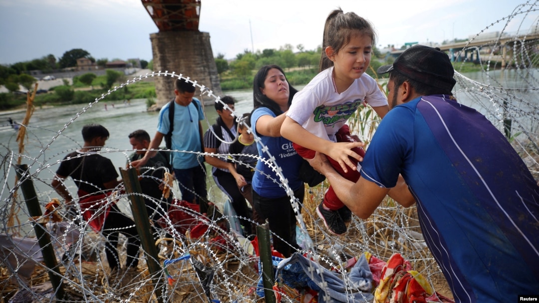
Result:
<svg viewBox="0 0 539 303">
<path fill-rule="evenodd" d="M 98 153 L 105 146 L 108 136 L 108 130 L 102 125 L 85 125 L 82 128 L 84 145 L 64 158 L 51 185 L 65 199 L 66 206 L 71 206 L 73 197 L 64 184 L 65 179 L 71 177 L 78 188 L 82 217 L 94 231 L 101 232 L 107 238 L 105 253 L 111 271 L 120 269 L 116 248 L 120 232 L 127 237 L 125 269 L 136 269 L 139 263 L 139 234 L 135 222 L 109 198 L 111 189 L 121 181 L 112 161 Z"/>
</svg>

